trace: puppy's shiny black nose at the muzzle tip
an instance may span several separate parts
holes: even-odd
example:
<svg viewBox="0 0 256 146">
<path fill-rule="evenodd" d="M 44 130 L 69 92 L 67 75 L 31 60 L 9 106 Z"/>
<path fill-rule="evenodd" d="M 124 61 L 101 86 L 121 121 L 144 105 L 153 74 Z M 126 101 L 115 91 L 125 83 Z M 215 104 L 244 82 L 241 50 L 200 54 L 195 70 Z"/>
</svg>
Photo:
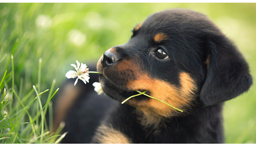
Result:
<svg viewBox="0 0 256 146">
<path fill-rule="evenodd" d="M 103 54 L 103 58 L 101 60 L 101 64 L 102 64 L 102 67 L 105 68 L 117 61 L 120 60 L 120 57 L 118 57 L 117 54 L 115 53 L 112 53 L 110 51 L 106 51 L 104 54 Z"/>
</svg>

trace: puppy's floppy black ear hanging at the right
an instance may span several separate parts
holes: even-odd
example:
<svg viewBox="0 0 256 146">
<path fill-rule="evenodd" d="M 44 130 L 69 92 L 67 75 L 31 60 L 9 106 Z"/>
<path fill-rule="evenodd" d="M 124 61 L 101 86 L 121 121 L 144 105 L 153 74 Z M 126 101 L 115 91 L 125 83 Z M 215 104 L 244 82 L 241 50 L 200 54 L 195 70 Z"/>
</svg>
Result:
<svg viewBox="0 0 256 146">
<path fill-rule="evenodd" d="M 211 36 L 205 45 L 208 73 L 200 92 L 204 106 L 232 99 L 252 85 L 249 66 L 242 54 L 223 35 Z"/>
</svg>

